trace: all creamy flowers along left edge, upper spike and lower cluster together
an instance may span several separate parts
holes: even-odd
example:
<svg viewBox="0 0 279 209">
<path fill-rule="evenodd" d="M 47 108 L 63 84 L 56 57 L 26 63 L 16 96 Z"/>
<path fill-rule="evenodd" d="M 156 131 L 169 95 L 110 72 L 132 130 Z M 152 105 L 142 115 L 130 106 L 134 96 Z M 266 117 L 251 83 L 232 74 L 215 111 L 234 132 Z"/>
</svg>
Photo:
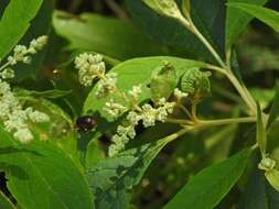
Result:
<svg viewBox="0 0 279 209">
<path fill-rule="evenodd" d="M 33 110 L 32 108 L 23 109 L 6 79 L 14 77 L 14 72 L 10 66 L 19 62 L 29 64 L 31 62 L 30 54 L 35 54 L 42 50 L 46 41 L 46 36 L 40 36 L 33 40 L 29 47 L 17 45 L 13 54 L 8 57 L 8 62 L 0 67 L 0 122 L 3 123 L 7 131 L 13 133 L 15 140 L 22 143 L 30 142 L 34 139 L 28 127 L 29 122 L 46 122 L 50 121 L 50 118 L 47 114 Z"/>
</svg>

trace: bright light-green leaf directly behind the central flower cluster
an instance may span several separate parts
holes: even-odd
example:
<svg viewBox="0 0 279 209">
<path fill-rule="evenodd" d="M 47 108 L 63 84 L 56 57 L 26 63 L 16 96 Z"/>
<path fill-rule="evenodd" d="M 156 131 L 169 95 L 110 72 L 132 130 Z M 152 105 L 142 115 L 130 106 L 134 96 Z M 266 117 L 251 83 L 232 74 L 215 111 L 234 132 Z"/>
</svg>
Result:
<svg viewBox="0 0 279 209">
<path fill-rule="evenodd" d="M 118 77 L 118 89 L 120 91 L 127 92 L 135 85 L 142 85 L 142 94 L 140 95 L 139 102 L 150 99 L 150 88 L 148 85 L 151 80 L 152 72 L 161 66 L 163 62 L 169 62 L 175 69 L 176 75 L 181 76 L 184 72 L 189 70 L 192 67 L 203 67 L 205 64 L 201 62 L 195 62 L 191 59 L 183 59 L 176 57 L 144 57 L 144 58 L 135 58 L 127 62 L 124 62 L 116 67 L 114 67 L 109 73 L 117 73 Z M 111 118 L 104 111 L 105 99 L 96 99 L 95 88 L 89 92 L 85 105 L 84 112 L 89 111 L 99 111 L 101 117 L 111 121 Z"/>
</svg>

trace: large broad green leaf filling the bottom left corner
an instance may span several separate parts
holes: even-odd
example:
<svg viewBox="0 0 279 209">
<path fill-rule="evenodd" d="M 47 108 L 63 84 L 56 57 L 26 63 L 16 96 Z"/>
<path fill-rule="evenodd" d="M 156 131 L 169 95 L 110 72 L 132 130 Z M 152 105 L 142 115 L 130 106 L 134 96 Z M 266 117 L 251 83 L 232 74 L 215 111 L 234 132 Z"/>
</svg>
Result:
<svg viewBox="0 0 279 209">
<path fill-rule="evenodd" d="M 21 145 L 0 128 L 0 163 L 8 188 L 21 208 L 92 209 L 85 177 L 54 144 L 35 140 Z M 10 147 L 14 147 L 11 150 Z"/>
</svg>

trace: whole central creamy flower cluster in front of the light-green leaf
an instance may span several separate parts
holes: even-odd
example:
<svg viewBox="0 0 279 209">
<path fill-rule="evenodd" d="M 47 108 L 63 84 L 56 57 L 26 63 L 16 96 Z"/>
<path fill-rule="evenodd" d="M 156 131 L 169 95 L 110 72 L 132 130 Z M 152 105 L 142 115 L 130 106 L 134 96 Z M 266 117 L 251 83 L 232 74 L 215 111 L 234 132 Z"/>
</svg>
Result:
<svg viewBox="0 0 279 209">
<path fill-rule="evenodd" d="M 114 156 L 125 148 L 129 140 L 136 138 L 136 127 L 142 121 L 144 128 L 155 125 L 155 121 L 165 122 L 168 114 L 173 112 L 175 102 L 168 102 L 165 98 L 159 98 L 154 107 L 146 103 L 138 106 L 141 94 L 141 85 L 133 86 L 128 92 L 121 92 L 117 88 L 117 74 L 106 74 L 105 63 L 100 55 L 81 54 L 75 59 L 75 67 L 78 69 L 79 81 L 84 86 L 92 86 L 94 79 L 98 80 L 95 88 L 97 98 L 108 98 L 104 110 L 114 119 L 126 116 L 126 124 L 117 128 L 117 133 L 112 136 L 112 144 L 108 154 Z M 112 95 L 114 92 L 114 95 Z M 179 90 L 178 97 L 186 97 Z M 116 98 L 118 99 L 116 100 Z M 124 102 L 118 102 L 120 100 Z"/>
</svg>

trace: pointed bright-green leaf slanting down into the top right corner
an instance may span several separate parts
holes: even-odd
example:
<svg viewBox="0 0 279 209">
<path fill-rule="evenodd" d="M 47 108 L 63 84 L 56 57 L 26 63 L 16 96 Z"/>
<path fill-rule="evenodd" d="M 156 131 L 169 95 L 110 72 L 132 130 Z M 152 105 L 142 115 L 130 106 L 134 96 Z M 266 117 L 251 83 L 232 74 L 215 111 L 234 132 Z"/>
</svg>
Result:
<svg viewBox="0 0 279 209">
<path fill-rule="evenodd" d="M 228 6 L 259 19 L 275 31 L 279 32 L 279 12 L 248 3 L 229 3 Z"/>
</svg>

